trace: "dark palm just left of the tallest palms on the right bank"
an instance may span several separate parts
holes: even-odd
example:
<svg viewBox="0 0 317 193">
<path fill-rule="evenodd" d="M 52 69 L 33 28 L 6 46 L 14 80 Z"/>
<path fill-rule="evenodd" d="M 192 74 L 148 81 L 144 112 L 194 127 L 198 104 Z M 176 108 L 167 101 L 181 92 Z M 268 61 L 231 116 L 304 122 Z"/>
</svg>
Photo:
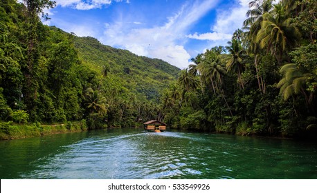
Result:
<svg viewBox="0 0 317 193">
<path fill-rule="evenodd" d="M 238 82 L 241 83 L 242 89 L 244 89 L 244 83 L 242 81 L 241 73 L 244 70 L 242 61 L 246 55 L 246 50 L 244 50 L 241 43 L 239 43 L 237 39 L 232 39 L 232 41 L 228 41 L 226 50 L 230 54 L 230 57 L 228 58 L 228 62 L 226 63 L 227 72 L 237 73 Z"/>
</svg>

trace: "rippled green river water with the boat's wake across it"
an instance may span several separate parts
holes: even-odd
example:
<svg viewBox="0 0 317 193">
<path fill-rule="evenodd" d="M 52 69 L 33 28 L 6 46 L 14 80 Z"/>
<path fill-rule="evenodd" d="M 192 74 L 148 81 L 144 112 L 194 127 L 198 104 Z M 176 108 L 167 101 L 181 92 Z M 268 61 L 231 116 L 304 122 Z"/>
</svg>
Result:
<svg viewBox="0 0 317 193">
<path fill-rule="evenodd" d="M 317 179 L 317 144 L 94 130 L 0 141 L 1 179 Z"/>
</svg>

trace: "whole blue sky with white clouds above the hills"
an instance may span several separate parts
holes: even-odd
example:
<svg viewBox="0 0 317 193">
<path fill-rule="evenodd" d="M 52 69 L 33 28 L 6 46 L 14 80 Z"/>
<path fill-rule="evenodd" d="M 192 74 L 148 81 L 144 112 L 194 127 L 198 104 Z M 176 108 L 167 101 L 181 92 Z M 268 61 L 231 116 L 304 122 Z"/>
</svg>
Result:
<svg viewBox="0 0 317 193">
<path fill-rule="evenodd" d="M 46 24 L 183 69 L 226 45 L 250 0 L 55 0 Z"/>
</svg>

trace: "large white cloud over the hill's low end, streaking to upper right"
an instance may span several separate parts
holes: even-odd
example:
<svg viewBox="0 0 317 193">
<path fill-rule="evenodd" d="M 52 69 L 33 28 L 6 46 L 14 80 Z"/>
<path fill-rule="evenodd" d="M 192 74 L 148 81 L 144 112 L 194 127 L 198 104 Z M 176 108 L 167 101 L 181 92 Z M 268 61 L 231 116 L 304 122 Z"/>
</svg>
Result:
<svg viewBox="0 0 317 193">
<path fill-rule="evenodd" d="M 125 21 L 119 14 L 116 21 L 105 24 L 104 36 L 99 39 L 107 45 L 187 68 L 191 57 L 183 47 L 188 39 L 186 34 L 215 5 L 215 0 L 188 1 L 178 12 L 167 17 L 165 24 L 148 28 L 135 28 L 138 23 Z"/>
</svg>

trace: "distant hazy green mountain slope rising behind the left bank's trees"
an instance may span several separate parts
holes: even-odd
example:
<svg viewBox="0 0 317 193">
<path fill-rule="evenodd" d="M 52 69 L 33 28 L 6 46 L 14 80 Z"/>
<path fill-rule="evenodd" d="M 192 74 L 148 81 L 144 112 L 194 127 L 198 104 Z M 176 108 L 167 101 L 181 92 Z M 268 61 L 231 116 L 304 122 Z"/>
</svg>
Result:
<svg viewBox="0 0 317 193">
<path fill-rule="evenodd" d="M 147 99 L 157 100 L 159 92 L 176 79 L 180 69 L 161 59 L 140 57 L 128 50 L 102 45 L 93 37 L 74 37 L 80 60 L 90 68 L 109 70 L 108 76 L 120 78 L 133 92 L 143 93 Z"/>
</svg>

